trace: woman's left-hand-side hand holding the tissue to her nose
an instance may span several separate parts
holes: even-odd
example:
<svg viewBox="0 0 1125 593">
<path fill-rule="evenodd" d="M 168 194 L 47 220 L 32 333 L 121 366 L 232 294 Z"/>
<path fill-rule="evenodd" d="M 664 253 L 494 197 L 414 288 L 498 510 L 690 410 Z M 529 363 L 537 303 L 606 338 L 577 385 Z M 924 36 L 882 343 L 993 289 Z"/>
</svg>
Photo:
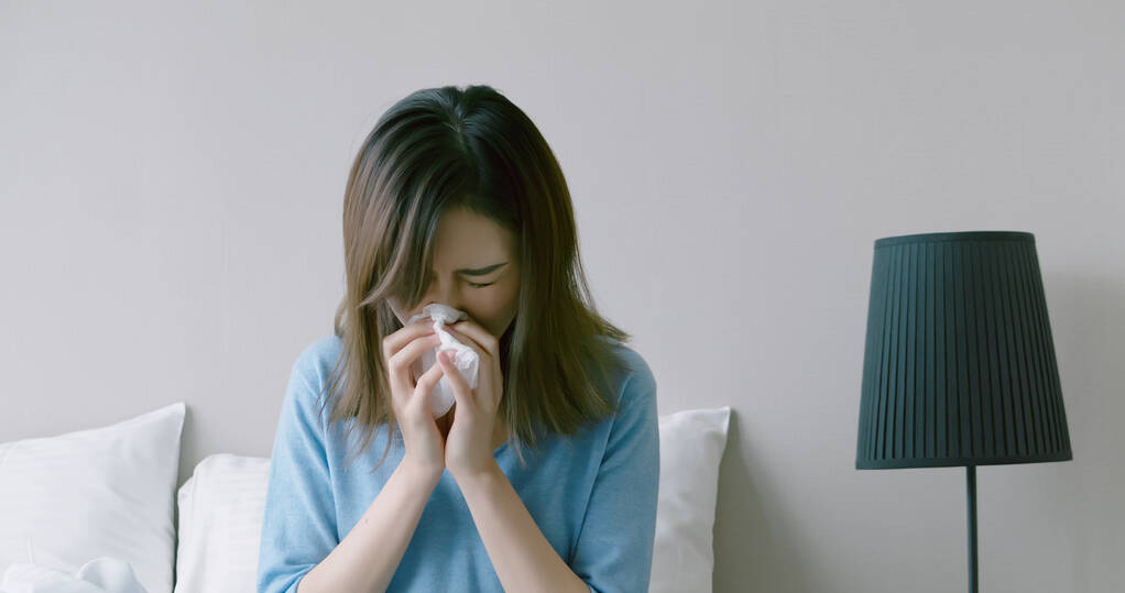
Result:
<svg viewBox="0 0 1125 593">
<path fill-rule="evenodd" d="M 441 343 L 433 325 L 415 322 L 382 339 L 382 362 L 390 383 L 390 405 L 403 431 L 403 464 L 412 464 L 426 476 L 441 478 L 446 467 L 446 444 L 430 413 L 429 397 L 441 379 L 440 365 L 414 381 L 411 369 L 423 352 Z"/>
</svg>

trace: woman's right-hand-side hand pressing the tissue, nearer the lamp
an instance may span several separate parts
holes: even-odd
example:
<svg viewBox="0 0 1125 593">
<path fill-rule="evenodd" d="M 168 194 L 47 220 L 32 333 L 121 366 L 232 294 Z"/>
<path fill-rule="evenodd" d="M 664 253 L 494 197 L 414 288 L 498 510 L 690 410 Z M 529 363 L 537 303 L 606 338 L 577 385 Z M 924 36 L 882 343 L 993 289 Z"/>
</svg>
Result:
<svg viewBox="0 0 1125 593">
<path fill-rule="evenodd" d="M 496 411 L 504 395 L 504 377 L 500 369 L 500 343 L 487 330 L 471 321 L 447 325 L 446 330 L 458 342 L 476 350 L 480 357 L 477 387 L 469 389 L 461 376 L 444 353 L 438 357 L 438 365 L 444 369 L 453 385 L 453 425 L 446 437 L 446 467 L 454 479 L 484 473 L 496 465 L 493 457 L 492 438 L 496 424 Z"/>
</svg>

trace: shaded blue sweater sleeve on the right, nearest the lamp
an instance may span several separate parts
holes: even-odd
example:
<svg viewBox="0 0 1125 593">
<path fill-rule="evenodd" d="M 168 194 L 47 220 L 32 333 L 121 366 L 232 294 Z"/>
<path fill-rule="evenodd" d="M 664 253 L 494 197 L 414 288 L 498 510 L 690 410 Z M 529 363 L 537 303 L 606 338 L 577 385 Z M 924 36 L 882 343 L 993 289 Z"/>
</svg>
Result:
<svg viewBox="0 0 1125 593">
<path fill-rule="evenodd" d="M 591 593 L 648 591 L 652 570 L 660 435 L 647 363 L 626 379 L 619 402 L 572 555 Z"/>
</svg>

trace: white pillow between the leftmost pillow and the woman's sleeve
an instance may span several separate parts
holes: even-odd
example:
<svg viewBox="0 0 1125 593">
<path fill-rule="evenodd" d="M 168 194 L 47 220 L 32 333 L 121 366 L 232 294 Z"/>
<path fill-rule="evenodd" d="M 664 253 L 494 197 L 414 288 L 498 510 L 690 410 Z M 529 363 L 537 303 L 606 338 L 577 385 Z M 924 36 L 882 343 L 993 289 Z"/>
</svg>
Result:
<svg viewBox="0 0 1125 593">
<path fill-rule="evenodd" d="M 180 486 L 176 593 L 254 591 L 270 458 L 215 453 Z"/>
</svg>

